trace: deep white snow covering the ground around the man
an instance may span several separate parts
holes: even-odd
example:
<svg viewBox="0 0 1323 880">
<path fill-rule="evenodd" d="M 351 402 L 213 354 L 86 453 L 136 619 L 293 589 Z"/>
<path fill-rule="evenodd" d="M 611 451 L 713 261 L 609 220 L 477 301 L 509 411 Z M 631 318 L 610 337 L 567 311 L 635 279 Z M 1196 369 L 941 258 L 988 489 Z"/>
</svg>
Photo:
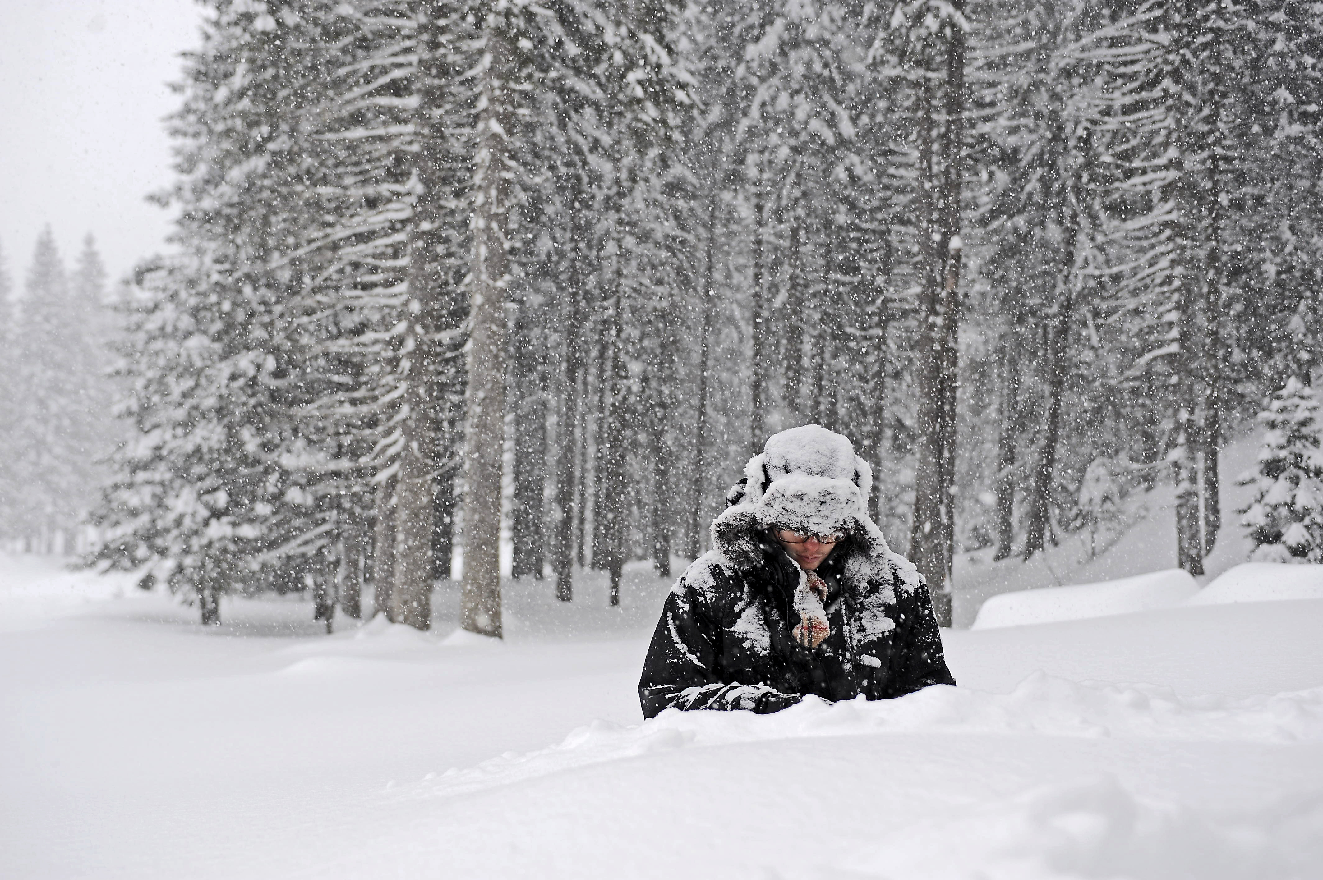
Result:
<svg viewBox="0 0 1323 880">
<path fill-rule="evenodd" d="M 1249 566 L 1246 566 L 1249 568 Z M 1242 572 L 1253 585 L 1256 572 Z M 945 633 L 959 687 L 642 721 L 669 584 L 509 637 L 0 556 L 0 876 L 1315 877 L 1323 599 Z M 1212 589 L 1207 588 L 1207 589 Z M 1244 589 L 1250 589 L 1249 586 Z"/>
</svg>

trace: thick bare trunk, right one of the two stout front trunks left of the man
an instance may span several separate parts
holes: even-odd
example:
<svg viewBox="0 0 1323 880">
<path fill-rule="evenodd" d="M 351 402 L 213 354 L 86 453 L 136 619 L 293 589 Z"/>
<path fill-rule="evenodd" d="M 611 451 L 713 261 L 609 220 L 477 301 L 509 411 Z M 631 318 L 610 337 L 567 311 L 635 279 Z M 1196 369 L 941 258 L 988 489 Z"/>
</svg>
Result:
<svg viewBox="0 0 1323 880">
<path fill-rule="evenodd" d="M 505 441 L 505 288 L 509 263 L 508 138 L 515 93 L 509 24 L 490 9 L 483 22 L 478 160 L 474 180 L 474 257 L 468 386 L 464 394 L 464 581 L 460 623 L 501 635 L 500 496 Z"/>
</svg>

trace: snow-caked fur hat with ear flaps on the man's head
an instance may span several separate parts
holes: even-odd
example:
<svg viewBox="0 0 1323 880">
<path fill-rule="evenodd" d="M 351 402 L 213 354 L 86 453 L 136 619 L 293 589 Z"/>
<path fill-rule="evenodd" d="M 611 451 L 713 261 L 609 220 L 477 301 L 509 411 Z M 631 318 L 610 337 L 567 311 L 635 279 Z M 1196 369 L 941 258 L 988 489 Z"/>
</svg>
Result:
<svg viewBox="0 0 1323 880">
<path fill-rule="evenodd" d="M 745 479 L 726 495 L 725 512 L 712 523 L 713 544 L 736 554 L 753 552 L 755 532 L 785 528 L 851 535 L 869 549 L 888 552 L 868 516 L 872 484 L 873 470 L 855 455 L 848 438 L 820 425 L 781 431 L 749 459 Z"/>
</svg>

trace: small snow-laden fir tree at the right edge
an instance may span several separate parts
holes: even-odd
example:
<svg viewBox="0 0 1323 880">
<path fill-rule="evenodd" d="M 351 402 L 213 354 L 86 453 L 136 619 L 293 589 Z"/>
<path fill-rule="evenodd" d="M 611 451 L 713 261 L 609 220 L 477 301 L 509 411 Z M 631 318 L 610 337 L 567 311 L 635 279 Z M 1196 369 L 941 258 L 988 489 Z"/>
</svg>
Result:
<svg viewBox="0 0 1323 880">
<path fill-rule="evenodd" d="M 1323 425 L 1314 389 L 1294 376 L 1259 417 L 1267 429 L 1258 468 L 1241 483 L 1253 502 L 1241 524 L 1257 562 L 1323 564 Z"/>
</svg>

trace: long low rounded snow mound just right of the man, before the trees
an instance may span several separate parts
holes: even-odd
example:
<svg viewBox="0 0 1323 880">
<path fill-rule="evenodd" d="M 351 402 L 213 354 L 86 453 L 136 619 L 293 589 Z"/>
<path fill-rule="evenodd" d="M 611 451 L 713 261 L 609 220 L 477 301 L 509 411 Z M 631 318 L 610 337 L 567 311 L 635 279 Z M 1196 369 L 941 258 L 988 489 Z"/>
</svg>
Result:
<svg viewBox="0 0 1323 880">
<path fill-rule="evenodd" d="M 987 630 L 1147 611 L 1179 605 L 1196 593 L 1199 584 L 1179 568 L 1101 584 L 1002 593 L 983 603 L 970 629 Z"/>
</svg>

